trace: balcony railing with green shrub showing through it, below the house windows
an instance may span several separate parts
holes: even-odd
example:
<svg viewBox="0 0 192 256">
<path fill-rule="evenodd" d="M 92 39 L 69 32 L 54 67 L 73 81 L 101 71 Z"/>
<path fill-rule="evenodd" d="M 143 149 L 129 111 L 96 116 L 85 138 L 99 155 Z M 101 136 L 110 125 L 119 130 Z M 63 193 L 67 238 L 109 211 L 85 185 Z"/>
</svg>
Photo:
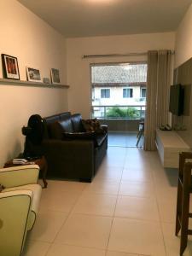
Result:
<svg viewBox="0 0 192 256">
<path fill-rule="evenodd" d="M 144 105 L 92 106 L 92 117 L 98 119 L 143 119 L 145 108 Z"/>
</svg>

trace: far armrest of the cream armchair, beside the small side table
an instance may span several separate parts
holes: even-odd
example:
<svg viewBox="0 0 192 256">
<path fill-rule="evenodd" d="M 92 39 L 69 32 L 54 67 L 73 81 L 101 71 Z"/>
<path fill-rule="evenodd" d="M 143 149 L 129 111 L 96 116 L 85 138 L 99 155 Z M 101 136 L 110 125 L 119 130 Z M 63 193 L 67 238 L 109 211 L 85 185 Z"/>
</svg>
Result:
<svg viewBox="0 0 192 256">
<path fill-rule="evenodd" d="M 0 169 L 0 183 L 5 188 L 38 183 L 39 166 L 14 166 Z"/>
</svg>

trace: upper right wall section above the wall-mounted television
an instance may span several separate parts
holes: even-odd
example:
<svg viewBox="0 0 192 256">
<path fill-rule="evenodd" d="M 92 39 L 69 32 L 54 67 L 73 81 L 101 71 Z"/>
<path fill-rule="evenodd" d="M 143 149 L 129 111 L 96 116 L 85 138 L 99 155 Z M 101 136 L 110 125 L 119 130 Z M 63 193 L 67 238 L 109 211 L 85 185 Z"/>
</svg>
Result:
<svg viewBox="0 0 192 256">
<path fill-rule="evenodd" d="M 192 57 L 192 4 L 178 26 L 175 49 L 175 67 Z"/>
</svg>

